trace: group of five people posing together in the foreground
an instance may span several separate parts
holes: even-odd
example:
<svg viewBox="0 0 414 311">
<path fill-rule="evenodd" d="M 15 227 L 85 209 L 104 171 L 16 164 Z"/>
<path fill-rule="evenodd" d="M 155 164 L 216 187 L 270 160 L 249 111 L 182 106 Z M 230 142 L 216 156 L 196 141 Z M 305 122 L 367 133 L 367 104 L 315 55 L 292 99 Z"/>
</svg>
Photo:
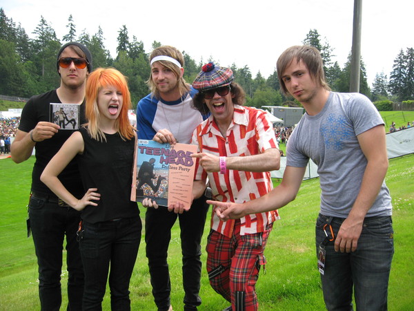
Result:
<svg viewBox="0 0 414 311">
<path fill-rule="evenodd" d="M 108 283 L 112 310 L 130 310 L 142 226 L 137 202 L 130 200 L 138 139 L 197 146 L 191 155 L 191 205 L 169 202 L 163 208 L 151 198 L 142 201 L 157 310 L 172 311 L 176 280 L 170 279 L 168 246 L 177 221 L 184 310 L 202 308 L 201 238 L 210 206 L 210 285 L 228 301 L 226 310 L 258 310 L 256 283 L 268 236 L 280 219 L 277 209 L 297 196 L 310 159 L 322 189 L 315 267 L 326 308 L 352 310 L 355 293 L 358 310 L 386 310 L 392 205 L 384 183 L 384 122 L 373 103 L 357 93 L 331 92 L 322 57 L 311 46 L 290 47 L 277 60 L 282 90 L 306 110 L 295 131 L 274 129 L 264 111 L 244 106 L 246 93 L 230 68 L 209 62 L 189 84 L 177 48 L 155 48 L 149 61 L 150 94 L 137 105 L 137 131 L 128 120 L 124 75 L 114 68 L 92 70 L 92 55 L 78 42 L 59 50 L 59 88 L 32 96 L 23 108 L 11 156 L 19 163 L 36 150 L 27 224 L 39 266 L 41 310 L 61 308 L 65 237 L 67 309 L 101 310 Z M 85 125 L 63 130 L 50 122 L 50 103 L 79 105 Z M 282 183 L 273 189 L 270 171 L 279 169 L 279 143 L 287 141 Z M 152 189 L 158 190 L 159 185 Z"/>
</svg>

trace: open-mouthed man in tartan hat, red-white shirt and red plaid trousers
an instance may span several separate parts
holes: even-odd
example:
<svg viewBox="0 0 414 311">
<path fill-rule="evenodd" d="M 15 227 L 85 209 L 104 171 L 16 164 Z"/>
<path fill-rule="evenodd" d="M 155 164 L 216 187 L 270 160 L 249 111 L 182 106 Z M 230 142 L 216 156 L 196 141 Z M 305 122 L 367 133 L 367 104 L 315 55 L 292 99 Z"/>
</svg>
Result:
<svg viewBox="0 0 414 311">
<path fill-rule="evenodd" d="M 193 196 L 200 196 L 208 180 L 214 200 L 246 202 L 273 189 L 270 171 L 279 169 L 280 153 L 275 132 L 265 111 L 245 107 L 245 93 L 233 81 L 230 68 L 208 63 L 193 82 L 199 91 L 195 109 L 210 112 L 193 132 L 197 144 Z M 206 250 L 210 285 L 231 303 L 228 310 L 257 310 L 255 284 L 264 248 L 277 211 L 220 220 L 215 214 Z"/>
</svg>

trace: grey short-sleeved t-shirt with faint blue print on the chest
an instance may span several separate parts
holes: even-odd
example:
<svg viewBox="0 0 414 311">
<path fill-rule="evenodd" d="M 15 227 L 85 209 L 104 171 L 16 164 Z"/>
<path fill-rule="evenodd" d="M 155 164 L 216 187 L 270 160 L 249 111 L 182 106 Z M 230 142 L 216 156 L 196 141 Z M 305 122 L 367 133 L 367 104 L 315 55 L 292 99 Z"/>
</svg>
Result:
<svg viewBox="0 0 414 311">
<path fill-rule="evenodd" d="M 331 92 L 317 115 L 305 113 L 290 135 L 286 165 L 317 164 L 321 214 L 346 218 L 361 187 L 367 160 L 357 135 L 384 124 L 368 98 L 359 93 Z M 385 182 L 366 217 L 391 216 L 391 197 Z"/>
</svg>

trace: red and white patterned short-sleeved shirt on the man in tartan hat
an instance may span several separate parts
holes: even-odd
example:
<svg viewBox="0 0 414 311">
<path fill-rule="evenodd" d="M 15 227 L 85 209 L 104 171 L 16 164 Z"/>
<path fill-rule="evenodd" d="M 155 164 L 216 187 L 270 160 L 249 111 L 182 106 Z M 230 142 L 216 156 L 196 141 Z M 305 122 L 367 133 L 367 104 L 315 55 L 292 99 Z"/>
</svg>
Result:
<svg viewBox="0 0 414 311">
<path fill-rule="evenodd" d="M 223 138 L 213 116 L 199 124 L 193 133 L 192 144 L 199 146 L 199 152 L 215 156 L 252 156 L 266 149 L 278 148 L 275 131 L 266 113 L 253 107 L 234 106 L 233 122 Z M 264 196 L 273 189 L 270 172 L 251 172 L 227 170 L 226 173 L 207 173 L 196 165 L 195 180 L 208 178 L 213 190 L 214 200 L 242 203 Z M 231 237 L 235 220 L 220 220 L 213 207 L 211 228 Z M 268 223 L 279 218 L 277 210 L 266 213 L 250 214 L 240 219 L 240 234 L 264 232 Z"/>
</svg>

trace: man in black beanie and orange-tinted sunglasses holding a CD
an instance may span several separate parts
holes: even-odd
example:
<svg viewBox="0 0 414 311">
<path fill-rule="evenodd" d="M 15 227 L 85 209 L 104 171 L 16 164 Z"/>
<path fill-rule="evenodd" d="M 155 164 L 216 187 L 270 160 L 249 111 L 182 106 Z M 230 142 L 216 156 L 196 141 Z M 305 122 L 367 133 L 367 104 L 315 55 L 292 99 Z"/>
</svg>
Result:
<svg viewBox="0 0 414 311">
<path fill-rule="evenodd" d="M 39 265 L 39 298 L 41 310 L 61 307 L 61 267 L 63 241 L 66 236 L 68 265 L 68 310 L 81 310 L 83 296 L 83 267 L 77 230 L 80 212 L 69 207 L 40 180 L 43 169 L 55 156 L 75 129 L 61 129 L 51 118 L 50 104 L 73 104 L 80 111 L 79 124 L 85 118 L 86 78 L 92 71 L 92 55 L 78 42 L 65 44 L 57 54 L 59 88 L 28 100 L 21 113 L 19 130 L 11 146 L 12 160 L 28 160 L 33 148 L 36 162 L 32 171 L 32 188 L 28 205 L 28 232 L 32 232 Z M 68 164 L 59 176 L 63 185 L 78 198 L 83 187 L 76 160 Z"/>
</svg>

